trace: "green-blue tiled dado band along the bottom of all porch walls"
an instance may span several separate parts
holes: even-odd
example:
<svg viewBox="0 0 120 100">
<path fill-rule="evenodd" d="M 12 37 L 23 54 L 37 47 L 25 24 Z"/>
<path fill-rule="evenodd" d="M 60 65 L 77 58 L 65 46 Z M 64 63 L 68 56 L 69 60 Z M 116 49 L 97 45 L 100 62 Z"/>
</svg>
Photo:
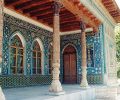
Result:
<svg viewBox="0 0 120 100">
<path fill-rule="evenodd" d="M 62 82 L 62 76 L 60 80 Z M 102 76 L 88 75 L 87 76 L 89 84 L 101 84 Z M 81 80 L 81 76 L 80 79 Z M 52 81 L 51 75 L 5 75 L 0 76 L 0 85 L 2 88 L 15 88 L 15 87 L 26 87 L 26 86 L 36 86 L 36 85 L 50 85 Z"/>
</svg>

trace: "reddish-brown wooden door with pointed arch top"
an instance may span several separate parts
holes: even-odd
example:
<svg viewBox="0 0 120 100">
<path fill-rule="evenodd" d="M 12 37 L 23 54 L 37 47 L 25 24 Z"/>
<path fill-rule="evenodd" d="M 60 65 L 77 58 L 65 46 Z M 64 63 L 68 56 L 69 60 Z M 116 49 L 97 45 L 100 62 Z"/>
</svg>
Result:
<svg viewBox="0 0 120 100">
<path fill-rule="evenodd" d="M 64 83 L 73 84 L 77 81 L 76 51 L 73 46 L 67 46 L 63 53 Z"/>
</svg>

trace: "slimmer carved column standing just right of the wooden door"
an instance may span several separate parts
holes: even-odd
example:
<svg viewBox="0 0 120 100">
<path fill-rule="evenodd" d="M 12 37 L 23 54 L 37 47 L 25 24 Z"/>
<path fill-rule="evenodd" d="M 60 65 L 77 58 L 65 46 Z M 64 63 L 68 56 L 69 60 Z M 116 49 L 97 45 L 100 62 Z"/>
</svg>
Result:
<svg viewBox="0 0 120 100">
<path fill-rule="evenodd" d="M 80 21 L 80 29 L 81 29 L 81 48 L 82 48 L 82 79 L 81 79 L 81 87 L 88 87 L 87 82 L 87 52 L 86 52 L 86 33 L 85 33 L 85 23 Z"/>
</svg>

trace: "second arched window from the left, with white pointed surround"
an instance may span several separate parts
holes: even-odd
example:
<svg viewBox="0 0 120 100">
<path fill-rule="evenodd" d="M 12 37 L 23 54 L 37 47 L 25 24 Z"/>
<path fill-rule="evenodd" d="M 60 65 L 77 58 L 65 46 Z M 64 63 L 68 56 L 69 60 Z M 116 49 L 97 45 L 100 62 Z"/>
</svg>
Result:
<svg viewBox="0 0 120 100">
<path fill-rule="evenodd" d="M 37 46 L 36 50 L 34 46 Z M 32 43 L 32 74 L 44 74 L 44 47 L 39 38 Z"/>
</svg>

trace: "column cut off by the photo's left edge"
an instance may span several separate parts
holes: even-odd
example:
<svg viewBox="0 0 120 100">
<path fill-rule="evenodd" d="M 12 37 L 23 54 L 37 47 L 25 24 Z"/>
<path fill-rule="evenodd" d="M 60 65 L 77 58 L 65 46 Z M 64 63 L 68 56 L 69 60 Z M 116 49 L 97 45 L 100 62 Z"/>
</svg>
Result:
<svg viewBox="0 0 120 100">
<path fill-rule="evenodd" d="M 0 0 L 0 63 L 2 63 L 2 37 L 3 37 L 3 0 Z M 0 69 L 1 67 L 2 66 L 0 66 Z M 0 87 L 0 100 L 5 100 L 5 96 L 2 92 L 1 87 Z"/>
</svg>

